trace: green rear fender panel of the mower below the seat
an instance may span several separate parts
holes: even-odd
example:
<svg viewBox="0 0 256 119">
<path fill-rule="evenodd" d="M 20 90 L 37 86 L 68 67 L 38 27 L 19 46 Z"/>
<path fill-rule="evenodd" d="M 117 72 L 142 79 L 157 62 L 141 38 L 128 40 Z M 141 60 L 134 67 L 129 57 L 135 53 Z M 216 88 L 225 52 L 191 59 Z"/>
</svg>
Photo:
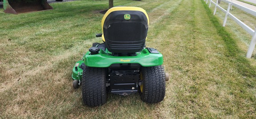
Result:
<svg viewBox="0 0 256 119">
<path fill-rule="evenodd" d="M 156 66 L 162 65 L 163 55 L 151 54 L 147 49 L 136 53 L 136 56 L 112 56 L 111 52 L 100 50 L 99 54 L 90 55 L 88 51 L 84 55 L 84 64 L 89 67 L 109 67 L 112 64 L 123 64 L 123 63 L 138 63 L 142 66 Z"/>
</svg>

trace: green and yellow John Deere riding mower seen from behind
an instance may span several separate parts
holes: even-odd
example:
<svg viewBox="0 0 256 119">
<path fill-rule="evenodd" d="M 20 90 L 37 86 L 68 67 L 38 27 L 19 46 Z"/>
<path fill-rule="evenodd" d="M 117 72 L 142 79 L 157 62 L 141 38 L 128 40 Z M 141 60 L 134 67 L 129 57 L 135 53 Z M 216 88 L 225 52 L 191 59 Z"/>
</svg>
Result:
<svg viewBox="0 0 256 119">
<path fill-rule="evenodd" d="M 142 8 L 114 7 L 104 15 L 103 43 L 93 43 L 72 70 L 73 88 L 82 88 L 88 106 L 106 103 L 107 91 L 129 95 L 139 92 L 146 103 L 164 100 L 163 55 L 145 46 L 148 15 Z"/>
</svg>

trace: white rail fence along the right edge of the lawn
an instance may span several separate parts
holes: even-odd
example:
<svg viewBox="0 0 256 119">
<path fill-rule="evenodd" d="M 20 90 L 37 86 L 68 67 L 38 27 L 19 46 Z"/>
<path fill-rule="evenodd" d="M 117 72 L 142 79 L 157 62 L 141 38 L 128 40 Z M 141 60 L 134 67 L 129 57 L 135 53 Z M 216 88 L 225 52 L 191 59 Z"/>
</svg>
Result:
<svg viewBox="0 0 256 119">
<path fill-rule="evenodd" d="M 204 0 L 205 1 L 205 0 Z M 252 10 L 252 9 L 249 9 L 249 8 L 246 8 L 244 6 L 241 6 L 239 4 L 236 4 L 236 3 L 233 3 L 231 1 L 228 1 L 228 0 L 221 0 L 222 2 L 225 2 L 225 3 L 228 3 L 228 9 L 225 10 L 223 8 L 221 8 L 219 5 L 218 5 L 218 1 L 219 0 L 216 0 L 216 3 L 214 3 L 212 0 L 209 0 L 210 3 L 209 3 L 209 8 L 211 7 L 211 4 L 215 4 L 215 9 L 214 9 L 214 13 L 213 15 L 215 15 L 216 13 L 216 10 L 217 8 L 219 8 L 222 12 L 226 13 L 225 15 L 225 19 L 224 19 L 224 22 L 223 22 L 223 27 L 225 27 L 226 25 L 226 22 L 227 22 L 227 19 L 228 19 L 228 16 L 234 20 L 237 24 L 239 24 L 242 28 L 244 28 L 245 31 L 247 31 L 250 35 L 252 35 L 252 40 L 251 40 L 251 43 L 250 43 L 250 46 L 248 48 L 248 51 L 247 51 L 247 54 L 246 54 L 246 58 L 251 58 L 252 57 L 252 52 L 254 50 L 254 47 L 256 45 L 256 29 L 253 30 L 252 28 L 248 27 L 246 24 L 244 24 L 242 21 L 240 21 L 239 19 L 237 19 L 234 15 L 232 15 L 231 13 L 229 13 L 229 10 L 232 6 L 236 7 L 236 8 L 239 8 L 240 10 L 243 10 L 244 12 L 247 12 L 253 16 L 256 17 L 256 11 Z M 206 1 L 206 4 L 208 4 L 208 0 Z"/>
</svg>

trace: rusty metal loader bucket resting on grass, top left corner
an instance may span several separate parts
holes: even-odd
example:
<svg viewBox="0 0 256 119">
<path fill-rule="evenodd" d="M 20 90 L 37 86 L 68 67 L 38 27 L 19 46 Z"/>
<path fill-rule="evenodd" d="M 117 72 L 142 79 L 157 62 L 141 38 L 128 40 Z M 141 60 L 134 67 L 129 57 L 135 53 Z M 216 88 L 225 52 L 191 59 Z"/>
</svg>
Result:
<svg viewBox="0 0 256 119">
<path fill-rule="evenodd" d="M 3 7 L 4 12 L 10 14 L 53 9 L 46 1 L 47 0 L 4 0 Z"/>
</svg>

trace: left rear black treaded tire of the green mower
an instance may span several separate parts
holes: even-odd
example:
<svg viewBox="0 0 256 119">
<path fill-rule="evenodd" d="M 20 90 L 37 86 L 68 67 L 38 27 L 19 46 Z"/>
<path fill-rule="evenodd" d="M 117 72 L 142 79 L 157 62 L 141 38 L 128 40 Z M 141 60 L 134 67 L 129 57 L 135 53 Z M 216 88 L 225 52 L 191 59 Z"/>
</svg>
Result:
<svg viewBox="0 0 256 119">
<path fill-rule="evenodd" d="M 99 106 L 106 103 L 106 77 L 105 68 L 86 67 L 82 77 L 82 98 L 88 106 Z"/>
</svg>

